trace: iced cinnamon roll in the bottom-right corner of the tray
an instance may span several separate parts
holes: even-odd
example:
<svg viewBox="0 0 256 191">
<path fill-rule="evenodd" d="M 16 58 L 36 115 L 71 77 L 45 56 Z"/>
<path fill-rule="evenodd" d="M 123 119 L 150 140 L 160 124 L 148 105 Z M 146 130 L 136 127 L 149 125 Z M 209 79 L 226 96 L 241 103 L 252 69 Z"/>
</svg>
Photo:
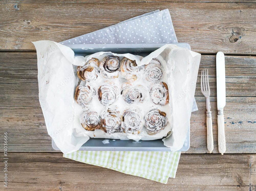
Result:
<svg viewBox="0 0 256 191">
<path fill-rule="evenodd" d="M 154 135 L 163 130 L 166 124 L 166 113 L 161 112 L 159 109 L 152 109 L 145 115 L 144 128 L 149 135 Z"/>
</svg>

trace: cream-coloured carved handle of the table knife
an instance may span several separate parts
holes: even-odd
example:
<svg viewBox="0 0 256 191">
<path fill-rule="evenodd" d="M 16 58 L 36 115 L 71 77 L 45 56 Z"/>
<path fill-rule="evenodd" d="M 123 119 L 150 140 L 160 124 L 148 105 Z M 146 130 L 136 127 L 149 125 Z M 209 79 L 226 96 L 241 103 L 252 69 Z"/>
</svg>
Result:
<svg viewBox="0 0 256 191">
<path fill-rule="evenodd" d="M 224 130 L 224 115 L 218 115 L 218 145 L 219 152 L 223 155 L 226 152 L 226 139 Z"/>
</svg>

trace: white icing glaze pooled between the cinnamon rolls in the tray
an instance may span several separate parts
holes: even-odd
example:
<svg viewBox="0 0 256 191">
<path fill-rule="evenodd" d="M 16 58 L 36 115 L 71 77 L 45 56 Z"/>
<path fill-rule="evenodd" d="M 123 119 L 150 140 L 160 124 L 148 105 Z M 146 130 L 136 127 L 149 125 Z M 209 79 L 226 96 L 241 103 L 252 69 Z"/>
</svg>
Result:
<svg viewBox="0 0 256 191">
<path fill-rule="evenodd" d="M 106 55 L 109 55 L 109 54 L 103 54 L 103 55 L 97 56 L 96 58 L 99 60 L 102 60 Z M 120 57 L 120 60 L 122 60 L 122 58 L 123 57 Z M 166 61 L 160 55 L 157 56 L 156 58 L 161 62 L 162 69 L 163 69 L 163 71 L 165 71 L 166 66 L 167 66 Z M 103 106 L 98 99 L 98 95 L 94 95 L 92 102 L 87 105 L 87 108 L 89 108 L 92 111 L 96 111 L 97 113 L 101 113 L 101 111 L 103 109 L 106 109 L 106 107 L 108 107 L 111 109 L 118 110 L 120 112 L 121 116 L 123 116 L 124 110 L 130 109 L 130 108 L 139 109 L 141 111 L 142 116 L 145 116 L 145 114 L 152 109 L 159 109 L 160 111 L 165 112 L 166 116 L 169 116 L 170 108 L 169 108 L 168 104 L 165 106 L 161 106 L 161 105 L 155 105 L 152 102 L 152 100 L 149 96 L 149 92 L 150 92 L 150 88 L 153 86 L 154 83 L 147 81 L 145 79 L 143 72 L 140 73 L 140 75 L 138 75 L 137 79 L 134 82 L 131 82 L 133 86 L 140 85 L 147 90 L 147 91 L 145 91 L 145 99 L 144 99 L 143 103 L 128 104 L 124 101 L 123 96 L 121 95 L 121 89 L 122 89 L 122 84 L 127 82 L 127 79 L 125 77 L 123 77 L 122 75 L 119 75 L 119 77 L 115 78 L 115 79 L 106 79 L 106 78 L 103 78 L 101 75 L 99 75 L 99 77 L 95 81 L 90 81 L 90 82 L 81 81 L 80 84 L 86 84 L 86 85 L 94 87 L 95 90 L 98 90 L 98 88 L 102 84 L 109 83 L 109 81 L 111 81 L 112 83 L 114 83 L 114 85 L 117 87 L 118 91 L 120 92 L 119 98 L 112 105 Z M 167 82 L 167 74 L 165 72 L 163 72 L 162 81 Z M 169 120 L 169 119 L 167 119 L 167 120 Z M 122 140 L 133 139 L 135 141 L 154 140 L 154 139 L 159 139 L 159 138 L 165 137 L 167 135 L 167 133 L 169 131 L 171 131 L 170 123 L 171 123 L 171 121 L 167 121 L 167 125 L 165 126 L 165 128 L 154 135 L 149 135 L 145 128 L 142 128 L 142 131 L 139 134 L 137 134 L 136 132 L 134 134 L 124 133 L 124 132 L 109 134 L 109 133 L 105 133 L 104 131 L 102 131 L 100 129 L 96 129 L 95 131 L 86 131 L 85 130 L 84 133 L 92 138 L 108 138 L 108 139 L 122 139 Z M 143 125 L 144 125 L 144 117 L 143 117 Z"/>
</svg>

